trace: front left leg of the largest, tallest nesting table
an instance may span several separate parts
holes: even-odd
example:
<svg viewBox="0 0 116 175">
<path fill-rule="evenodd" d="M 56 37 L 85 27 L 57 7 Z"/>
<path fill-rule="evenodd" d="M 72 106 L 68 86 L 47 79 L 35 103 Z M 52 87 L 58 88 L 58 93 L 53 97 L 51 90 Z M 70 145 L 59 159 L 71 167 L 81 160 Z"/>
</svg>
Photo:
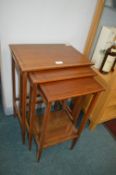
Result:
<svg viewBox="0 0 116 175">
<path fill-rule="evenodd" d="M 22 142 L 25 143 L 26 134 L 26 96 L 27 96 L 27 72 L 20 74 L 20 113 L 22 127 Z"/>
</svg>

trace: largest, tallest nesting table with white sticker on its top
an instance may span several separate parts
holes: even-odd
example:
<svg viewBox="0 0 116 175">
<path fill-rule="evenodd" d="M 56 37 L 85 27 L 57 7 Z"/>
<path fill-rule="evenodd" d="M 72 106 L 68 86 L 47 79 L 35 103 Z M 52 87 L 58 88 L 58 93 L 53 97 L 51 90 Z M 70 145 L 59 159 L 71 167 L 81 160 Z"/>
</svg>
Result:
<svg viewBox="0 0 116 175">
<path fill-rule="evenodd" d="M 13 108 L 21 122 L 24 143 L 28 73 L 47 70 L 49 74 L 51 70 L 67 71 L 67 69 L 72 70 L 75 67 L 89 67 L 91 63 L 79 51 L 65 44 L 11 44 L 10 50 L 12 55 Z M 19 70 L 20 74 L 20 110 L 16 105 L 15 68 Z"/>
</svg>

